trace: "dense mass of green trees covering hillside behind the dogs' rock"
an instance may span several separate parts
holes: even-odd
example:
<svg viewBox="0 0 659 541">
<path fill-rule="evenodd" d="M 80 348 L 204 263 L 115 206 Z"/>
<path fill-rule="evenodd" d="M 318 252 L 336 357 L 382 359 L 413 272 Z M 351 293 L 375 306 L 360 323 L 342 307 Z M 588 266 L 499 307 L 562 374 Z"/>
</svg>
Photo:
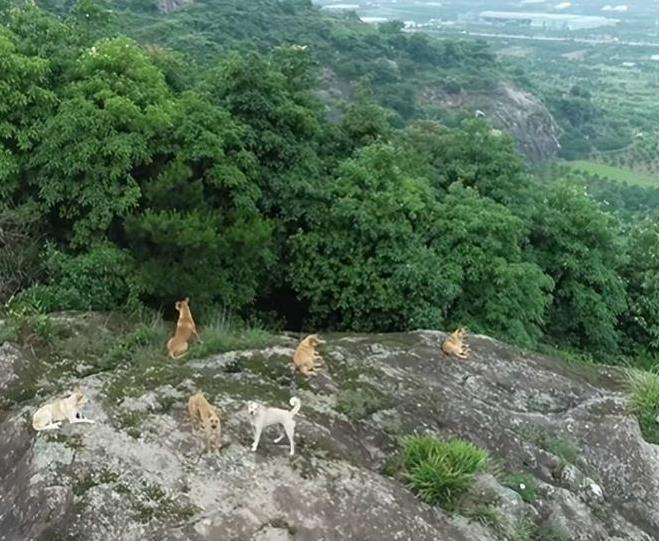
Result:
<svg viewBox="0 0 659 541">
<path fill-rule="evenodd" d="M 187 28 L 176 25 L 204 13 L 195 6 L 144 17 L 173 24 L 154 36 L 176 47 Z M 539 182 L 483 122 L 398 124 L 367 89 L 330 121 L 318 97 L 316 54 L 338 55 L 338 66 L 349 50 L 371 69 L 369 51 L 386 49 L 399 65 L 454 62 L 469 78 L 486 73 L 482 44 L 329 19 L 306 4 L 230 6 L 251 15 L 233 26 L 209 18 L 217 48 L 199 63 L 137 35 L 153 27 L 131 26 L 121 5 L 82 0 L 60 6 L 62 17 L 5 8 L 0 295 L 13 318 L 171 310 L 189 296 L 202 320 L 224 310 L 294 329 L 464 324 L 524 346 L 655 363 L 656 221 L 622 227 L 583 186 Z M 213 24 L 250 44 L 229 31 L 222 41 Z M 283 25 L 331 28 L 332 46 L 269 47 L 286 41 L 272 37 Z"/>
</svg>

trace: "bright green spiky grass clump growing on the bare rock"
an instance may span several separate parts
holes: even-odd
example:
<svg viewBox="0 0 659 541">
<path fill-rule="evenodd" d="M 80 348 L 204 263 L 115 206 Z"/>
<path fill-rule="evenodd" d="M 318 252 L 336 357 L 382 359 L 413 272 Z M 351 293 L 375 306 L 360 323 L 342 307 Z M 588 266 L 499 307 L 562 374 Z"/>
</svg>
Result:
<svg viewBox="0 0 659 541">
<path fill-rule="evenodd" d="M 403 440 L 404 476 L 410 488 L 426 503 L 453 508 L 479 471 L 487 468 L 486 450 L 460 440 L 441 441 L 432 436 Z"/>
</svg>

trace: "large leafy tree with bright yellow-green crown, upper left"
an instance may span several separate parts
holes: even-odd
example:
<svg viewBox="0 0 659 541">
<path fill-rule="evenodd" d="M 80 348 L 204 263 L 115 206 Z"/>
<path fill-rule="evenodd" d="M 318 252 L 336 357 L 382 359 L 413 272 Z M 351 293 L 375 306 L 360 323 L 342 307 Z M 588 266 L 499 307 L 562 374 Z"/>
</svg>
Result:
<svg viewBox="0 0 659 541">
<path fill-rule="evenodd" d="M 32 155 L 32 182 L 62 238 L 81 246 L 137 207 L 135 173 L 151 162 L 171 104 L 162 73 L 126 38 L 84 52 L 62 93 Z"/>
</svg>

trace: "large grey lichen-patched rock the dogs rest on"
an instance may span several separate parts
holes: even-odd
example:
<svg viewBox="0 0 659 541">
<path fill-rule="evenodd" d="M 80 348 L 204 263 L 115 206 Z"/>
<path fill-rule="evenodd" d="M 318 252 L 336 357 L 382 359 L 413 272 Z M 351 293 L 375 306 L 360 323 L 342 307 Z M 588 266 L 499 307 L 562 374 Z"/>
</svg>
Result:
<svg viewBox="0 0 659 541">
<path fill-rule="evenodd" d="M 310 382 L 291 372 L 287 337 L 140 373 L 64 373 L 56 387 L 80 385 L 97 423 L 35 434 L 31 414 L 56 393 L 0 414 L 0 538 L 657 539 L 659 447 L 642 439 L 616 370 L 480 336 L 458 361 L 443 337 L 325 336 L 327 366 Z M 222 410 L 217 454 L 186 418 L 198 388 Z M 252 453 L 245 401 L 287 407 L 291 394 L 302 400 L 296 456 L 274 429 Z M 392 476 L 399 438 L 415 431 L 468 439 L 497 465 L 454 513 Z"/>
</svg>

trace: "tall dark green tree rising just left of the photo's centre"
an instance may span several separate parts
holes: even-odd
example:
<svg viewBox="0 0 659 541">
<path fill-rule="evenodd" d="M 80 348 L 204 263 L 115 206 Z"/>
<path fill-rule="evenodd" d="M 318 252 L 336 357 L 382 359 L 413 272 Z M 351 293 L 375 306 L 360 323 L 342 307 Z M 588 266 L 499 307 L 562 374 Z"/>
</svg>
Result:
<svg viewBox="0 0 659 541">
<path fill-rule="evenodd" d="M 299 216 L 299 201 L 314 190 L 323 166 L 318 149 L 321 109 L 311 94 L 307 54 L 277 49 L 270 56 L 228 55 L 207 77 L 214 102 L 246 131 L 258 162 L 261 209 L 283 220 Z"/>
</svg>

